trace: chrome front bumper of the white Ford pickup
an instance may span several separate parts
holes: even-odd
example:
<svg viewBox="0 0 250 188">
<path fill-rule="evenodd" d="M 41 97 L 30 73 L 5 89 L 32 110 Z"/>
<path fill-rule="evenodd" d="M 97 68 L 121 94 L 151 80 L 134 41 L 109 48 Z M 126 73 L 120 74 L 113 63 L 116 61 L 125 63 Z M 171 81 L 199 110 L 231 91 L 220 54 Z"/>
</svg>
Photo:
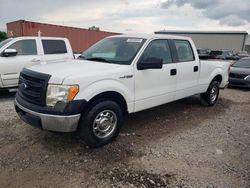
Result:
<svg viewBox="0 0 250 188">
<path fill-rule="evenodd" d="M 20 110 L 18 112 L 19 117 L 30 125 L 33 125 L 31 123 L 34 122 L 32 121 L 33 118 L 40 120 L 39 122 L 41 123 L 41 128 L 45 130 L 56 132 L 74 132 L 77 129 L 80 114 L 69 116 L 42 114 L 21 106 L 16 100 L 14 103 Z"/>
</svg>

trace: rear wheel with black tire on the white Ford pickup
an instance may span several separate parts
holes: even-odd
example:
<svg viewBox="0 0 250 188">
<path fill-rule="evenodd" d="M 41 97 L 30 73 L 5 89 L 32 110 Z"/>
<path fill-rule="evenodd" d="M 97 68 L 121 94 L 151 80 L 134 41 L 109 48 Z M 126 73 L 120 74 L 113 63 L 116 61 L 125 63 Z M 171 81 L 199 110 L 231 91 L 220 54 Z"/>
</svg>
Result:
<svg viewBox="0 0 250 188">
<path fill-rule="evenodd" d="M 218 81 L 212 81 L 207 91 L 201 94 L 201 100 L 204 105 L 213 106 L 216 104 L 220 93 L 219 85 Z"/>
</svg>

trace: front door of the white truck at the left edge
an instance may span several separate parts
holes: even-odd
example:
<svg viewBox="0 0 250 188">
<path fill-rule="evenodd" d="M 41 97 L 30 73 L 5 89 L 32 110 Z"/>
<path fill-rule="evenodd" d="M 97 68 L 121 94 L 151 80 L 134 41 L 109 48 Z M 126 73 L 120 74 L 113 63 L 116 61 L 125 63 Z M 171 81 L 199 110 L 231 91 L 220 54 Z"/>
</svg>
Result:
<svg viewBox="0 0 250 188">
<path fill-rule="evenodd" d="M 14 87 L 24 67 L 39 63 L 36 39 L 22 39 L 10 44 L 6 49 L 15 49 L 14 57 L 0 57 L 0 75 L 4 87 Z"/>
</svg>

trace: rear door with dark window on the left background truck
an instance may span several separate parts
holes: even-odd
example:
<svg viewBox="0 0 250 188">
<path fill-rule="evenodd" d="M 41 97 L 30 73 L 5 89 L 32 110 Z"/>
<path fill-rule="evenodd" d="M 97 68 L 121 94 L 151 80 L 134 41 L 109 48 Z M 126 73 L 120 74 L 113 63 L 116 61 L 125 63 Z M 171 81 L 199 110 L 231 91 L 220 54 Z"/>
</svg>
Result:
<svg viewBox="0 0 250 188">
<path fill-rule="evenodd" d="M 62 39 L 41 39 L 44 56 L 47 63 L 60 62 L 69 59 L 66 43 Z M 71 57 L 73 59 L 73 55 Z"/>
</svg>

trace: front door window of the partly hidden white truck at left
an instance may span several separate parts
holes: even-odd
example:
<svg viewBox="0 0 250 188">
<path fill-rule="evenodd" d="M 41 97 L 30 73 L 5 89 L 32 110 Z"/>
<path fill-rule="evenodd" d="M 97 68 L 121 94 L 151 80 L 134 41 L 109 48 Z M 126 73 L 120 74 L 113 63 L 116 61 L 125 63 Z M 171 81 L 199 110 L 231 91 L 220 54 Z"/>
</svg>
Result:
<svg viewBox="0 0 250 188">
<path fill-rule="evenodd" d="M 36 40 L 34 39 L 19 40 L 10 45 L 8 49 L 15 49 L 17 55 L 37 55 Z"/>
</svg>

